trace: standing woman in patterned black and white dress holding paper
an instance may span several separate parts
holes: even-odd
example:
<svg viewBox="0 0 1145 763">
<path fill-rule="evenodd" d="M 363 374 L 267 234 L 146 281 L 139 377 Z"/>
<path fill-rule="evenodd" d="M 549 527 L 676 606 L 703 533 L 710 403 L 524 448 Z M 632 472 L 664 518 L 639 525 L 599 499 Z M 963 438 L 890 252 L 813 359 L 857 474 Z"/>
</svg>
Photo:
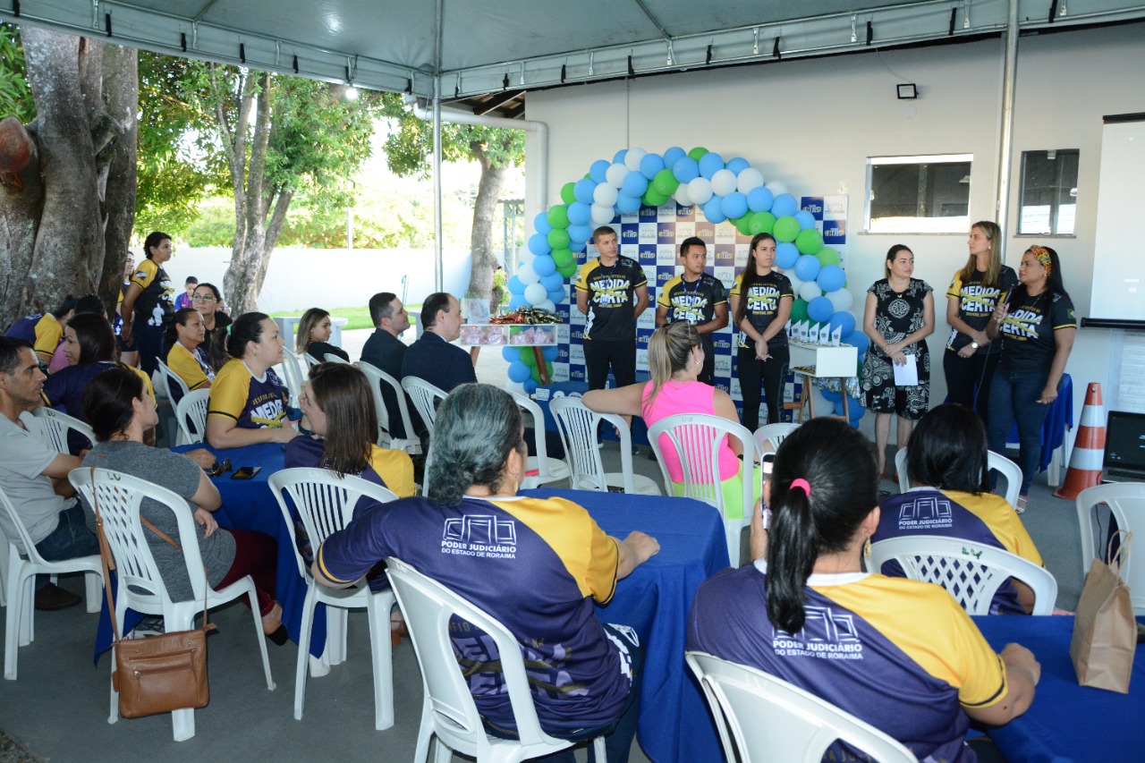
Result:
<svg viewBox="0 0 1145 763">
<path fill-rule="evenodd" d="M 906 448 L 915 422 L 930 403 L 930 352 L 926 337 L 934 332 L 934 296 L 925 281 L 911 278 L 915 254 L 902 244 L 886 253 L 886 277 L 867 290 L 862 328 L 870 337 L 862 365 L 862 403 L 875 411 L 878 473 L 886 470 L 891 415 L 899 417 L 899 448 Z M 918 384 L 897 386 L 894 365 L 915 357 Z M 893 365 L 892 365 L 893 364 Z"/>
</svg>

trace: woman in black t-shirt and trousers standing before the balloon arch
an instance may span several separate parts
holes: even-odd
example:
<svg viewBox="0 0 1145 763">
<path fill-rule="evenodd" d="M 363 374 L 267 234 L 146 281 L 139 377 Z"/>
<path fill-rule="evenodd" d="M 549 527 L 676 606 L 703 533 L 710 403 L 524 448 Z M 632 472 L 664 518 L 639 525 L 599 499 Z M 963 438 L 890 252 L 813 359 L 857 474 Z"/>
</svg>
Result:
<svg viewBox="0 0 1145 763">
<path fill-rule="evenodd" d="M 748 250 L 748 265 L 735 280 L 728 301 L 732 323 L 740 337 L 736 352 L 740 394 L 743 396 L 743 425 L 755 432 L 759 426 L 759 393 L 767 396 L 767 420 L 780 420 L 780 396 L 787 377 L 787 328 L 795 293 L 791 281 L 775 270 L 775 237 L 756 234 Z"/>
</svg>

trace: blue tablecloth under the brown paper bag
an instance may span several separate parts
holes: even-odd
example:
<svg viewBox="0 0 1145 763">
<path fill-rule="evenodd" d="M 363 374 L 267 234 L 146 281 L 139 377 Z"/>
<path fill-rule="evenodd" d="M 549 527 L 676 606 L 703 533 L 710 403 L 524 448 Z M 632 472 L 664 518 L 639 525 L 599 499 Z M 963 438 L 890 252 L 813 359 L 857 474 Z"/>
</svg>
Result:
<svg viewBox="0 0 1145 763">
<path fill-rule="evenodd" d="M 1134 660 L 1129 693 L 1077 685 L 1069 660 L 1074 619 L 1064 615 L 980 616 L 974 623 L 995 651 L 1013 642 L 1042 663 L 1034 703 L 989 734 L 1010 763 L 1137 761 L 1145 750 L 1145 656 Z"/>
</svg>

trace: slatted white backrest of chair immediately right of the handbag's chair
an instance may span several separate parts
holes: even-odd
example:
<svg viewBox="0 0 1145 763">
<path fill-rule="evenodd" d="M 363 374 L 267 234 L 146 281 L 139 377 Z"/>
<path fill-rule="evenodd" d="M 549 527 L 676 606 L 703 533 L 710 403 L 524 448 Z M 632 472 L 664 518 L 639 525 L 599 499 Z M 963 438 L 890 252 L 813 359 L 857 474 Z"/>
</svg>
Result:
<svg viewBox="0 0 1145 763">
<path fill-rule="evenodd" d="M 315 550 L 331 534 L 349 524 L 358 498 L 364 496 L 379 503 L 397 500 L 396 495 L 380 485 L 352 474 L 344 477 L 326 469 L 284 469 L 271 474 L 267 485 L 283 512 L 291 540 L 294 538 L 294 516 L 286 503 L 286 496 L 294 504 L 310 538 L 310 546 Z M 297 553 L 294 557 L 299 565 L 298 572 L 305 580 L 307 571 L 302 568 L 302 557 Z"/>
</svg>

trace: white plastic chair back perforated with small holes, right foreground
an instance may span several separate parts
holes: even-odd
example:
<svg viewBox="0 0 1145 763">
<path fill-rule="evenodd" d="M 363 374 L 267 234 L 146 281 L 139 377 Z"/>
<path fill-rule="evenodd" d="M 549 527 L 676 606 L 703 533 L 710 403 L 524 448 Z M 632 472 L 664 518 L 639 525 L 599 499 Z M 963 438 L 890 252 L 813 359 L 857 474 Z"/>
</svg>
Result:
<svg viewBox="0 0 1145 763">
<path fill-rule="evenodd" d="M 910 580 L 945 588 L 969 614 L 989 614 L 994 595 L 1011 577 L 1034 591 L 1032 614 L 1053 614 L 1057 580 L 1009 551 L 958 537 L 907 535 L 871 544 L 867 569 L 879 571 L 892 559 Z"/>
</svg>

